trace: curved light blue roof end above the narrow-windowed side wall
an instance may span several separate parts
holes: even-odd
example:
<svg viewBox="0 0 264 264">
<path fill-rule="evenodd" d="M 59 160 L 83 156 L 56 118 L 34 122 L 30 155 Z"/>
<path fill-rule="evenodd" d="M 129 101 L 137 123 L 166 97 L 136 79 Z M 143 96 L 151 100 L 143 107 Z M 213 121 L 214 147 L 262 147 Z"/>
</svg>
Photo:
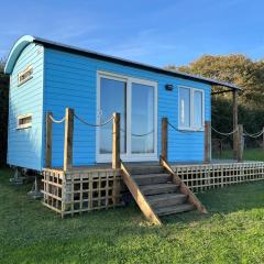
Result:
<svg viewBox="0 0 264 264">
<path fill-rule="evenodd" d="M 6 64 L 4 67 L 4 74 L 11 74 L 14 67 L 14 64 L 16 62 L 16 59 L 20 56 L 20 53 L 33 41 L 35 40 L 34 36 L 32 35 L 24 35 L 21 36 L 14 44 L 14 46 L 12 47 L 11 52 L 9 53 L 8 56 L 8 62 Z"/>
</svg>

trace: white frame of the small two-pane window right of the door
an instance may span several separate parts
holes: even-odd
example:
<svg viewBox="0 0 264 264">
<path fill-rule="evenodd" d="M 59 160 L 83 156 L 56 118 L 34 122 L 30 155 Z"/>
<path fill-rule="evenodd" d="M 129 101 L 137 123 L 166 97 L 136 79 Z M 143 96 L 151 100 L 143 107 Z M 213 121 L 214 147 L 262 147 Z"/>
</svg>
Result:
<svg viewBox="0 0 264 264">
<path fill-rule="evenodd" d="M 180 125 L 180 114 L 182 114 L 182 109 L 180 109 L 180 98 L 179 98 L 179 89 L 189 89 L 189 95 L 190 95 L 190 127 L 183 127 Z M 194 107 L 194 96 L 195 91 L 201 92 L 201 103 L 202 103 L 202 110 L 201 110 L 201 128 L 195 127 L 194 125 L 194 116 L 195 116 L 195 107 Z M 205 131 L 205 90 L 195 88 L 195 87 L 189 87 L 189 86 L 178 86 L 178 129 L 179 130 L 186 130 L 186 131 Z"/>
</svg>

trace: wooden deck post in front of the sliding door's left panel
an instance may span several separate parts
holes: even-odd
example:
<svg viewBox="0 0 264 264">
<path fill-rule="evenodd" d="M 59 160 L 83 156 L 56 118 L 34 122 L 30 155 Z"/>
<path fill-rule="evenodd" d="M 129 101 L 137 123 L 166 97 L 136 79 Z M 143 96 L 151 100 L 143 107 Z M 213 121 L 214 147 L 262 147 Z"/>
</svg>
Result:
<svg viewBox="0 0 264 264">
<path fill-rule="evenodd" d="M 112 125 L 112 168 L 120 168 L 120 113 L 113 113 Z"/>
</svg>

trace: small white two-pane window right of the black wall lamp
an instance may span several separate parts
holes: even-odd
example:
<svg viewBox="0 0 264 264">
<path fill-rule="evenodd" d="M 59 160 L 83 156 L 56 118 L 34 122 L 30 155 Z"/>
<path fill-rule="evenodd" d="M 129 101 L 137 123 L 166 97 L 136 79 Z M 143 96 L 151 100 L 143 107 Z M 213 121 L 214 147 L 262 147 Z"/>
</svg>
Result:
<svg viewBox="0 0 264 264">
<path fill-rule="evenodd" d="M 205 120 L 204 90 L 179 87 L 179 129 L 202 130 Z"/>
</svg>

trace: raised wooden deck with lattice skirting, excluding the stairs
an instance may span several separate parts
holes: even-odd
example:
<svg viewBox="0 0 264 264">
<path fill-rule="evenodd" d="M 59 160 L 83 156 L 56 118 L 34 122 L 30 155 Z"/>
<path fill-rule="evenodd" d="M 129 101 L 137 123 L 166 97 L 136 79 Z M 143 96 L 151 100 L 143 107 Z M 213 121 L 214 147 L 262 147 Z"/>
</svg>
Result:
<svg viewBox="0 0 264 264">
<path fill-rule="evenodd" d="M 160 166 L 157 162 L 124 163 L 128 169 Z M 175 175 L 194 193 L 210 188 L 263 180 L 264 162 L 233 162 L 216 160 L 211 163 L 173 163 Z M 123 205 L 128 193 L 122 170 L 111 164 L 62 167 L 43 170 L 43 204 L 62 215 L 113 208 Z"/>
</svg>

